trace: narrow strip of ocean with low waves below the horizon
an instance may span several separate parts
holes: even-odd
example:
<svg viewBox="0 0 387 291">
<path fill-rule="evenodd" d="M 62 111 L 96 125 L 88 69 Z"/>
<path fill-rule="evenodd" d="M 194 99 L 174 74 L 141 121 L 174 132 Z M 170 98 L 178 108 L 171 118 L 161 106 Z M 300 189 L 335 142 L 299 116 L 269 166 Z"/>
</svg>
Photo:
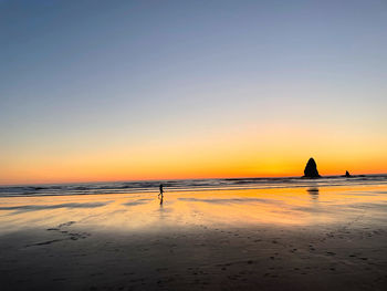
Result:
<svg viewBox="0 0 387 291">
<path fill-rule="evenodd" d="M 19 185 L 0 186 L 0 197 L 157 193 L 160 184 L 165 191 L 366 186 L 387 184 L 387 175 L 359 175 L 351 178 L 327 176 L 318 179 L 281 177 Z"/>
</svg>

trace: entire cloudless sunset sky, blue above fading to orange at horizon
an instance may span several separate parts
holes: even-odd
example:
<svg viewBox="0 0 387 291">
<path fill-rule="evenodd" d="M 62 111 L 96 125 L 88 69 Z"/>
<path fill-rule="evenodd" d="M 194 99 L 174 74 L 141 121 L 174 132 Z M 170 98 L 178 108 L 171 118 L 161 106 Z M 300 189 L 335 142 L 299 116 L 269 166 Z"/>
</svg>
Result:
<svg viewBox="0 0 387 291">
<path fill-rule="evenodd" d="M 0 184 L 387 173 L 387 2 L 0 0 Z"/>
</svg>

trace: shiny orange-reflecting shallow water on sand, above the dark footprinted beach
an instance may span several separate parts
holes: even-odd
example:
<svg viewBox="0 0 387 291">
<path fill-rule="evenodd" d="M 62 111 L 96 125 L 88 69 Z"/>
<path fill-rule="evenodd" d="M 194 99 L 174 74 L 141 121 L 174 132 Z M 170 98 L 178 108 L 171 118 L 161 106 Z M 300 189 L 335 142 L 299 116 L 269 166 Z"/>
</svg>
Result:
<svg viewBox="0 0 387 291">
<path fill-rule="evenodd" d="M 0 198 L 0 235 L 22 229 L 74 227 L 151 232 L 163 228 L 216 226 L 314 226 L 387 222 L 387 186 L 296 187 L 87 196 Z"/>
</svg>

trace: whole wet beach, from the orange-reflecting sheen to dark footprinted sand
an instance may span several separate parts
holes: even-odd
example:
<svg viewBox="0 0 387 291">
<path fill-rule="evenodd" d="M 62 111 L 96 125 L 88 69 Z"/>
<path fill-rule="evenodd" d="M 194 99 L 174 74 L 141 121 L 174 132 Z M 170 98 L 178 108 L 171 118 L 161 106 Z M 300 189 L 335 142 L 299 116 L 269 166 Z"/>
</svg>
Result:
<svg viewBox="0 0 387 291">
<path fill-rule="evenodd" d="M 1 290 L 386 290 L 387 188 L 1 198 Z"/>
</svg>

